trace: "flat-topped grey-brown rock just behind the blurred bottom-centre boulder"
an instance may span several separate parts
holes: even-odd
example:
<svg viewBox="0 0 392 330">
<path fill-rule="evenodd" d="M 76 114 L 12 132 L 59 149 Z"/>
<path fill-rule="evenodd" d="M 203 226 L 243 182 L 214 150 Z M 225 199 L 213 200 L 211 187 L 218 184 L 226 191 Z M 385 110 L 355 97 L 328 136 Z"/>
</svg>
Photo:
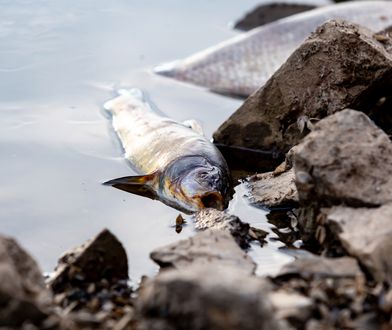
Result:
<svg viewBox="0 0 392 330">
<path fill-rule="evenodd" d="M 229 232 L 206 230 L 186 240 L 159 248 L 150 255 L 162 268 L 188 268 L 191 265 L 223 265 L 253 274 L 256 265 L 236 244 Z"/>
</svg>

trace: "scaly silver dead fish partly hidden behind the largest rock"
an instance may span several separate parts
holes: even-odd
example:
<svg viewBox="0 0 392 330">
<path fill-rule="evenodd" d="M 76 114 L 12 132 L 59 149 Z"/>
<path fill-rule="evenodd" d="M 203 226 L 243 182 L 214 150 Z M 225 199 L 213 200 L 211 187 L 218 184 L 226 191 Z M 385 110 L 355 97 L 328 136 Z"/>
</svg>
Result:
<svg viewBox="0 0 392 330">
<path fill-rule="evenodd" d="M 352 1 L 296 14 L 255 28 L 196 53 L 164 64 L 155 72 L 212 91 L 248 96 L 272 76 L 319 25 L 344 19 L 379 31 L 392 25 L 392 2 Z"/>
</svg>

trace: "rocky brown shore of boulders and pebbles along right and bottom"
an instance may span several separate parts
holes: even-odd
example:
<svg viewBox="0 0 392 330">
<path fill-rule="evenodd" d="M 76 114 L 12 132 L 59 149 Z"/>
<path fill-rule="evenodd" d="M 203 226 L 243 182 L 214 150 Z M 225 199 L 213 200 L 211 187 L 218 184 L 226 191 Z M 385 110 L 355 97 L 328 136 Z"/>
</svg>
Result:
<svg viewBox="0 0 392 330">
<path fill-rule="evenodd" d="M 280 239 L 298 252 L 279 274 L 256 276 L 247 255 L 268 233 L 212 209 L 195 214 L 193 237 L 151 251 L 160 272 L 137 287 L 108 230 L 46 279 L 0 236 L 0 327 L 392 328 L 391 45 L 388 33 L 325 23 L 215 134 L 285 157 L 248 182 L 250 202 L 281 211 Z"/>
</svg>

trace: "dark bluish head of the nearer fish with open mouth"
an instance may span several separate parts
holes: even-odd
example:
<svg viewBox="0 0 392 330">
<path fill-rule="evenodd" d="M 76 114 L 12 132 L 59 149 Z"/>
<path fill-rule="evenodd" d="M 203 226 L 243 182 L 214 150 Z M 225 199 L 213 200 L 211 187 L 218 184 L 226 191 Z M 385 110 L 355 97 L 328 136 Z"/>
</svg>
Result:
<svg viewBox="0 0 392 330">
<path fill-rule="evenodd" d="M 176 162 L 164 177 L 164 192 L 188 213 L 204 208 L 224 210 L 231 199 L 231 178 L 226 168 L 201 156 Z"/>
</svg>

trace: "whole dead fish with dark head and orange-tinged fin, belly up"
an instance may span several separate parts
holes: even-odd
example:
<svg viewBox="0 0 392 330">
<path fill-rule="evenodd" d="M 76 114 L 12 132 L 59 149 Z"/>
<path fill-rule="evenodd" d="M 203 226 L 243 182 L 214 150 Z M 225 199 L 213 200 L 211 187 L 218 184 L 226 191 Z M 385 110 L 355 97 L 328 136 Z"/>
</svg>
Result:
<svg viewBox="0 0 392 330">
<path fill-rule="evenodd" d="M 138 89 L 120 90 L 104 108 L 112 114 L 126 159 L 142 174 L 104 184 L 158 199 L 185 213 L 228 206 L 233 192 L 229 169 L 203 135 L 158 115 Z"/>
</svg>

